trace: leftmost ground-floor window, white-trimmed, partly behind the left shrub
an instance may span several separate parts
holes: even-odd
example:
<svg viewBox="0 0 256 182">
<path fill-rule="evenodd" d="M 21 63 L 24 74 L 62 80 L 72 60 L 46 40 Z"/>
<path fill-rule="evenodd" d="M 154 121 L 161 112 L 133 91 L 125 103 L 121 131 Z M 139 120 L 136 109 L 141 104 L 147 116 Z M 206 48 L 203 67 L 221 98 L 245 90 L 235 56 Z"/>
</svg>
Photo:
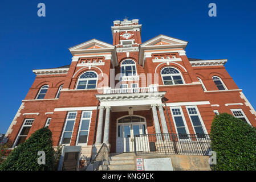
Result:
<svg viewBox="0 0 256 182">
<path fill-rule="evenodd" d="M 34 122 L 34 119 L 25 119 L 21 127 L 21 130 L 19 131 L 18 137 L 14 143 L 14 147 L 26 141 L 27 134 L 29 134 L 29 131 L 33 122 Z"/>
</svg>

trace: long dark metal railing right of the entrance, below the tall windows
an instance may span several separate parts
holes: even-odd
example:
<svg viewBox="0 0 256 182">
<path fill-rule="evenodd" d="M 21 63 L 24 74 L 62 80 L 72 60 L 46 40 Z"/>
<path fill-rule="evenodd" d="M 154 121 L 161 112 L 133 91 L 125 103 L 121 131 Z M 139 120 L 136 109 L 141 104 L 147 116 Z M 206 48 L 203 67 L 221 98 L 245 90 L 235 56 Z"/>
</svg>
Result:
<svg viewBox="0 0 256 182">
<path fill-rule="evenodd" d="M 210 137 L 206 134 L 142 134 L 135 136 L 135 154 L 208 155 Z"/>
</svg>

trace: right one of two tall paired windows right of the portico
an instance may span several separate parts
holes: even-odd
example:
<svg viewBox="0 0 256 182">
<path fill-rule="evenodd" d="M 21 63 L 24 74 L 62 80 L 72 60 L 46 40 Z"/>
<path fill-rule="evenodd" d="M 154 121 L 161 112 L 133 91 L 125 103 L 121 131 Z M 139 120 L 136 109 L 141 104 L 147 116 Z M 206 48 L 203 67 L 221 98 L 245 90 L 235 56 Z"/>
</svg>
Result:
<svg viewBox="0 0 256 182">
<path fill-rule="evenodd" d="M 188 111 L 190 121 L 192 122 L 194 133 L 197 134 L 198 138 L 205 138 L 205 134 L 207 134 L 207 131 L 205 129 L 204 122 L 202 121 L 201 115 L 197 107 L 186 106 L 186 110 Z"/>
</svg>

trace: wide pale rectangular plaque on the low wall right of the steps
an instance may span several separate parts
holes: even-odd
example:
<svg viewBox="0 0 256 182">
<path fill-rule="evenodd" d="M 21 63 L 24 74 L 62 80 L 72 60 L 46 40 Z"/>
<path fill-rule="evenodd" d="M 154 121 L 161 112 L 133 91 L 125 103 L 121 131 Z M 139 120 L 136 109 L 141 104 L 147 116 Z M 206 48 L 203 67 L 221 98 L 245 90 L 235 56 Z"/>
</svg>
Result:
<svg viewBox="0 0 256 182">
<path fill-rule="evenodd" d="M 144 159 L 145 171 L 173 171 L 170 158 Z"/>
</svg>

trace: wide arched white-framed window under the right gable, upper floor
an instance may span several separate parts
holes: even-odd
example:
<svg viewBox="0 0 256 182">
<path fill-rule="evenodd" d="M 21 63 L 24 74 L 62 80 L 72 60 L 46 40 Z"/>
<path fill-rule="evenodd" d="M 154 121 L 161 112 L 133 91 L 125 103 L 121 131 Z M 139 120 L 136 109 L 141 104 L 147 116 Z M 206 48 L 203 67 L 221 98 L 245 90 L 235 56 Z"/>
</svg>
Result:
<svg viewBox="0 0 256 182">
<path fill-rule="evenodd" d="M 162 82 L 164 82 L 164 85 L 184 84 L 181 73 L 175 68 L 167 67 L 162 69 L 161 76 L 162 76 Z"/>
</svg>

